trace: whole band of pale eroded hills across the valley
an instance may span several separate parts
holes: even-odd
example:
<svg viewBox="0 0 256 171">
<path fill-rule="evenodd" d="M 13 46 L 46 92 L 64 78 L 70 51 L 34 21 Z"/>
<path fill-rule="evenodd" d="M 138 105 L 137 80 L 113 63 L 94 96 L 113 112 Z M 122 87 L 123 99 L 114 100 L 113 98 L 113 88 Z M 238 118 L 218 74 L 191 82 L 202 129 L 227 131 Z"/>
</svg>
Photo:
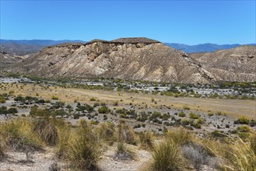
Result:
<svg viewBox="0 0 256 171">
<path fill-rule="evenodd" d="M 208 84 L 255 81 L 251 62 L 255 64 L 255 46 L 188 55 L 157 40 L 139 37 L 45 47 L 12 65 L 12 70 L 48 77 Z"/>
</svg>

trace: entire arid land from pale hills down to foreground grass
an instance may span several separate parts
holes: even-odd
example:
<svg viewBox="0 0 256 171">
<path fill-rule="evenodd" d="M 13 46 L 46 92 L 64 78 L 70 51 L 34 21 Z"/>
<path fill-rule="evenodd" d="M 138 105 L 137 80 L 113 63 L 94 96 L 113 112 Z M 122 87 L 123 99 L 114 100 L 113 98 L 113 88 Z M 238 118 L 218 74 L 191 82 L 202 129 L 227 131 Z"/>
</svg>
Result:
<svg viewBox="0 0 256 171">
<path fill-rule="evenodd" d="M 256 170 L 255 46 L 121 38 L 0 54 L 0 170 Z"/>
</svg>

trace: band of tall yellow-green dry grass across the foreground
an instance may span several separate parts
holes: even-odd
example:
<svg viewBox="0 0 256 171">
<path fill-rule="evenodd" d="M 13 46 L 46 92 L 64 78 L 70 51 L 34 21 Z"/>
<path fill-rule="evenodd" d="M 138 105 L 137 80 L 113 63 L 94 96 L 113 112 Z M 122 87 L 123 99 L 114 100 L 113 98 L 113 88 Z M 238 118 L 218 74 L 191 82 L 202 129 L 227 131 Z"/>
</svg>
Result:
<svg viewBox="0 0 256 171">
<path fill-rule="evenodd" d="M 0 124 L 0 160 L 5 159 L 7 150 L 28 153 L 51 146 L 69 168 L 98 170 L 106 145 L 117 144 L 117 159 L 136 159 L 136 152 L 128 148 L 130 144 L 151 152 L 146 170 L 200 170 L 202 165 L 217 170 L 256 170 L 256 131 L 243 139 L 226 135 L 214 138 L 210 134 L 199 138 L 185 128 L 155 136 L 151 132 L 136 134 L 124 121 L 92 125 L 81 120 L 74 127 L 53 118 L 18 118 Z"/>
</svg>

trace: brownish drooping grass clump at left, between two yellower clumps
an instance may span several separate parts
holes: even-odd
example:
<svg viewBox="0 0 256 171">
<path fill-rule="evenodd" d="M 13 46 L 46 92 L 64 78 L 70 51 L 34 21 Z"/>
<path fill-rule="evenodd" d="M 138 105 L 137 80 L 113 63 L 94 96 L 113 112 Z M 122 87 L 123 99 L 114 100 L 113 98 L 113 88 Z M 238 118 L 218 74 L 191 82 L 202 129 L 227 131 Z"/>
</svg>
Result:
<svg viewBox="0 0 256 171">
<path fill-rule="evenodd" d="M 47 145 L 56 145 L 59 141 L 58 128 L 54 125 L 54 120 L 39 119 L 33 123 L 33 131 L 47 143 Z"/>
</svg>

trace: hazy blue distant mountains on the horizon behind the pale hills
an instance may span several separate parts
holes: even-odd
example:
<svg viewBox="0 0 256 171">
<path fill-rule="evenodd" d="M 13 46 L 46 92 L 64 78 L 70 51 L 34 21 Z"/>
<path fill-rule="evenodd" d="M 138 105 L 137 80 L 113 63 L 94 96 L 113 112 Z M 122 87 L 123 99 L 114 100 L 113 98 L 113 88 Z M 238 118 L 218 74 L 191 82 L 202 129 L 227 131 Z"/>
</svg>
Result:
<svg viewBox="0 0 256 171">
<path fill-rule="evenodd" d="M 44 47 L 64 44 L 64 43 L 86 43 L 82 40 L 2 40 L 0 39 L 0 51 L 8 54 L 25 55 L 33 54 L 41 51 Z M 177 50 L 185 51 L 186 53 L 213 52 L 217 50 L 226 50 L 234 47 L 240 47 L 241 44 L 174 44 L 164 43 L 169 47 Z M 256 44 L 247 44 L 256 45 Z"/>
</svg>

